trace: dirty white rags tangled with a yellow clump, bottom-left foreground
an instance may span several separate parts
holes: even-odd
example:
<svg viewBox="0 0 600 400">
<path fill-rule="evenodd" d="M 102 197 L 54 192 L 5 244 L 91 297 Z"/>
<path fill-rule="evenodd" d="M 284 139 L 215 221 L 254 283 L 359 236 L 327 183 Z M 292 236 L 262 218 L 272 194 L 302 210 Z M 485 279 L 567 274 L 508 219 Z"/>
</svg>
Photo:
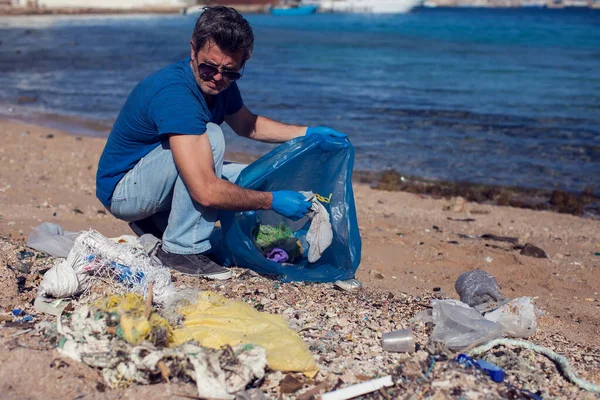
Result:
<svg viewBox="0 0 600 400">
<path fill-rule="evenodd" d="M 264 377 L 264 348 L 244 344 L 213 350 L 193 342 L 169 346 L 172 327 L 144 303 L 133 293 L 109 296 L 96 307 L 80 307 L 66 323 L 59 318 L 59 352 L 100 369 L 112 388 L 194 381 L 200 397 L 233 399 Z"/>
</svg>

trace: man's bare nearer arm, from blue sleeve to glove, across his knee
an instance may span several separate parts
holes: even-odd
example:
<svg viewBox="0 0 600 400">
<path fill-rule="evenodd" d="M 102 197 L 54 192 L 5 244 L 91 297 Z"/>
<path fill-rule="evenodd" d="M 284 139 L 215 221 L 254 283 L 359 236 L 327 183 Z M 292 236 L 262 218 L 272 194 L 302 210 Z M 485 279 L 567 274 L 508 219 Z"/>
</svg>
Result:
<svg viewBox="0 0 600 400">
<path fill-rule="evenodd" d="M 222 210 L 269 210 L 270 192 L 258 192 L 234 185 L 215 175 L 208 135 L 171 135 L 169 144 L 175 165 L 192 199 L 205 207 Z"/>
</svg>

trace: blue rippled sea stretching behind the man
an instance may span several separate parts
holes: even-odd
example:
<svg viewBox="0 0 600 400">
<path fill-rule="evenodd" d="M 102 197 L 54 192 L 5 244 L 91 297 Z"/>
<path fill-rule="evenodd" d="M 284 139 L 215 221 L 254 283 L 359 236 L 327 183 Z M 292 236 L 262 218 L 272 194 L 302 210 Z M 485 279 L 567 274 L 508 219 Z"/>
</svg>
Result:
<svg viewBox="0 0 600 400">
<path fill-rule="evenodd" d="M 356 169 L 600 194 L 600 10 L 246 17 L 247 106 L 348 133 Z M 1 17 L 0 115 L 109 127 L 138 81 L 188 56 L 196 18 Z"/>
</svg>

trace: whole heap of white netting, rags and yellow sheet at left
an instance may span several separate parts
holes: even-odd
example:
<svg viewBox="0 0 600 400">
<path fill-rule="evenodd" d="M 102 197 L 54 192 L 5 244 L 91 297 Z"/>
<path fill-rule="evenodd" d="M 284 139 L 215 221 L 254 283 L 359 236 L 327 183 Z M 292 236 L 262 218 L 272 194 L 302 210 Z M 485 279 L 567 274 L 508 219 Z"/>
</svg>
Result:
<svg viewBox="0 0 600 400">
<path fill-rule="evenodd" d="M 40 241 L 41 231 L 49 234 Z M 308 347 L 280 316 L 216 293 L 177 291 L 169 270 L 153 257 L 157 240 L 148 236 L 110 240 L 94 230 L 81 232 L 66 259 L 45 273 L 36 302 L 58 315 L 62 354 L 101 369 L 113 388 L 157 377 L 192 379 L 200 397 L 219 399 L 262 379 L 267 366 L 317 373 Z M 54 251 L 64 244 L 62 251 L 70 245 L 65 237 L 62 229 L 45 225 L 33 245 Z M 124 294 L 83 305 L 63 323 L 49 303 L 57 308 L 56 302 L 85 293 L 96 279 L 112 280 L 115 292 Z"/>
</svg>

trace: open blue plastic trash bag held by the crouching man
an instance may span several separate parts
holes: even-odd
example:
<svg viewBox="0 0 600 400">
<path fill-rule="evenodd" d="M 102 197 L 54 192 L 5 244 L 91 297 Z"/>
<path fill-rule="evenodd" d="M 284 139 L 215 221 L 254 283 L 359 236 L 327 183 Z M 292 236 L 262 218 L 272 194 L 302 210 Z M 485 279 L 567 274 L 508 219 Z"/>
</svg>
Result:
<svg viewBox="0 0 600 400">
<path fill-rule="evenodd" d="M 354 148 L 348 139 L 314 136 L 286 142 L 246 167 L 236 183 L 247 189 L 312 191 L 323 198 L 331 195 L 330 202 L 323 205 L 331 216 L 333 242 L 314 264 L 305 256 L 294 264 L 280 264 L 258 250 L 254 229 L 259 224 L 277 226 L 284 222 L 305 242 L 302 236 L 308 230 L 307 217 L 292 221 L 274 211 L 226 211 L 221 213 L 222 244 L 229 261 L 284 282 L 354 278 L 360 264 L 361 239 L 352 190 L 353 165 Z"/>
</svg>

